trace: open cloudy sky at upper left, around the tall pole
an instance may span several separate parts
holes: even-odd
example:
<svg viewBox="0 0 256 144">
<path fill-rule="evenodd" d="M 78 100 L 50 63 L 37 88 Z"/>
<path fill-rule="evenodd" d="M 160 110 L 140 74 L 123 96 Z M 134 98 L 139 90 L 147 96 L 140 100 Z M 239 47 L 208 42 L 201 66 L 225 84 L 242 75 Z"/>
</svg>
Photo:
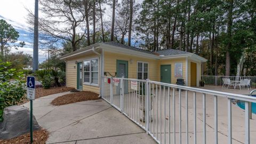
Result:
<svg viewBox="0 0 256 144">
<path fill-rule="evenodd" d="M 20 33 L 19 41 L 24 41 L 26 45 L 18 50 L 11 49 L 12 52 L 23 51 L 33 55 L 33 29 L 26 23 L 27 9 L 34 12 L 35 0 L 1 0 L 0 19 L 6 20 Z M 40 15 L 40 13 L 39 13 Z M 32 32 L 31 32 L 32 30 Z M 46 53 L 39 50 L 39 62 L 46 59 Z"/>
</svg>

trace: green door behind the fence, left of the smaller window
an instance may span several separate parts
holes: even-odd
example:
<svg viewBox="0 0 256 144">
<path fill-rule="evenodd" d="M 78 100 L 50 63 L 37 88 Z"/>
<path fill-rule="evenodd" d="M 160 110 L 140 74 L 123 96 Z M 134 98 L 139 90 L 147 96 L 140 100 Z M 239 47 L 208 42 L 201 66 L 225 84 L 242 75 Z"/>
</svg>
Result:
<svg viewBox="0 0 256 144">
<path fill-rule="evenodd" d="M 128 61 L 117 60 L 116 61 L 116 77 L 128 78 Z"/>
</svg>

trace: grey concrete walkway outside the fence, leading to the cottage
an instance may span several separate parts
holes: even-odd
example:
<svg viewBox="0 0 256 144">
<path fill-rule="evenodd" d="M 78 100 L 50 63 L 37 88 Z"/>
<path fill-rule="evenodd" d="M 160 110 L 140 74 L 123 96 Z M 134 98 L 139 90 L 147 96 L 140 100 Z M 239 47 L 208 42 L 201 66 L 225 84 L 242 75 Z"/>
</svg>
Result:
<svg viewBox="0 0 256 144">
<path fill-rule="evenodd" d="M 33 103 L 39 125 L 50 132 L 47 143 L 156 143 L 102 99 L 50 105 L 54 98 L 68 93 L 52 94 Z M 29 102 L 24 106 L 29 107 Z"/>
</svg>

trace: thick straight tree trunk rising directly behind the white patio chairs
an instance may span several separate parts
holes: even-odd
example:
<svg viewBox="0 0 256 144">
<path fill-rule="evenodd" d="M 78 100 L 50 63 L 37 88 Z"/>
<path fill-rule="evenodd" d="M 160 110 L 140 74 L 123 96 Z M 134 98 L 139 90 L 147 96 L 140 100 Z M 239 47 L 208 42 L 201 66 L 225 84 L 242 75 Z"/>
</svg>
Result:
<svg viewBox="0 0 256 144">
<path fill-rule="evenodd" d="M 233 0 L 228 1 L 229 8 L 228 8 L 228 23 L 227 23 L 227 37 L 228 37 L 228 44 L 226 49 L 226 76 L 230 75 L 230 54 L 229 51 L 231 49 L 231 30 L 233 24 Z"/>
</svg>

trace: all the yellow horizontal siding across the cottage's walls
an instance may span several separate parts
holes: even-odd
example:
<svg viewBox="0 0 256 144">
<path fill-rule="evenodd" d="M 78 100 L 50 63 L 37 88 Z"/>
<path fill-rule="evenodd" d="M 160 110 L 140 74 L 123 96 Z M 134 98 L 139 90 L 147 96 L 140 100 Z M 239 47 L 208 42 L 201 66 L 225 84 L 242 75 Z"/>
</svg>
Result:
<svg viewBox="0 0 256 144">
<path fill-rule="evenodd" d="M 186 58 L 180 58 L 180 59 L 150 59 L 150 58 L 142 58 L 137 55 L 132 54 L 121 54 L 121 53 L 114 53 L 105 51 L 103 53 L 103 63 L 104 63 L 104 72 L 110 73 L 112 76 L 115 76 L 116 70 L 116 61 L 117 60 L 125 60 L 128 61 L 128 77 L 129 78 L 137 78 L 137 62 L 147 62 L 148 63 L 148 78 L 151 81 L 160 81 L 160 74 L 161 74 L 161 65 L 171 65 L 171 84 L 175 84 L 177 82 L 177 78 L 183 78 L 186 83 Z M 95 93 L 100 93 L 100 83 L 101 83 L 101 59 L 99 55 L 91 53 L 82 55 L 75 58 L 69 58 L 66 61 L 66 81 L 68 87 L 74 87 L 77 88 L 77 65 L 75 62 L 83 62 L 84 60 L 93 59 L 93 58 L 99 58 L 99 86 L 92 86 L 92 85 L 86 85 L 83 84 L 83 91 L 92 91 Z M 132 61 L 132 63 L 130 62 Z M 175 63 L 176 62 L 182 62 L 182 70 L 183 74 L 182 77 L 175 77 L 174 76 L 174 70 L 175 70 Z M 190 63 L 193 62 L 188 59 L 188 86 L 190 86 L 191 81 L 191 74 L 190 74 Z M 201 69 L 201 63 L 196 62 L 199 66 L 198 68 Z M 199 78 L 201 75 L 201 70 L 197 70 L 197 73 L 199 73 Z M 109 74 L 107 74 L 110 76 Z"/>
</svg>

